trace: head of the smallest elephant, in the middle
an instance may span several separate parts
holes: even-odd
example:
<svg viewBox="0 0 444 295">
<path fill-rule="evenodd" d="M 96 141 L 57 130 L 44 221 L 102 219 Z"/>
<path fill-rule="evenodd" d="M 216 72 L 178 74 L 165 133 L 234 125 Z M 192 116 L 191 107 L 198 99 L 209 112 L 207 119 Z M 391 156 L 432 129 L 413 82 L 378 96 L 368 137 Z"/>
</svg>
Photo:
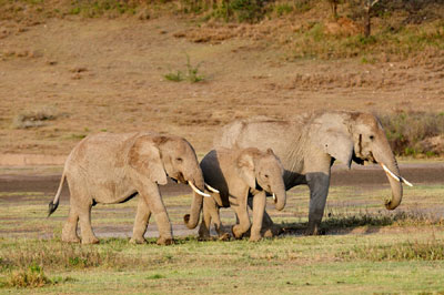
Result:
<svg viewBox="0 0 444 295">
<path fill-rule="evenodd" d="M 272 194 L 276 210 L 284 208 L 286 202 L 284 169 L 271 149 L 266 152 L 253 148 L 243 150 L 236 159 L 236 169 L 250 190 L 259 187 Z"/>
</svg>

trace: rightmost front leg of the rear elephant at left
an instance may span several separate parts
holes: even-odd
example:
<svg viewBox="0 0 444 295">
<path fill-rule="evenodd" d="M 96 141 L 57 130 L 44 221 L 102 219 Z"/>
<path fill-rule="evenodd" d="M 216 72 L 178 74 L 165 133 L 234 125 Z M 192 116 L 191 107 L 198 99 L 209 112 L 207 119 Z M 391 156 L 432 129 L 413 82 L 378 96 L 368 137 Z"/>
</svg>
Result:
<svg viewBox="0 0 444 295">
<path fill-rule="evenodd" d="M 153 187 L 150 189 L 151 190 L 142 187 L 138 190 L 138 192 L 147 204 L 149 204 L 150 211 L 154 215 L 159 231 L 158 245 L 171 245 L 173 243 L 173 231 L 165 205 L 160 195 L 159 186 L 154 184 Z"/>
</svg>

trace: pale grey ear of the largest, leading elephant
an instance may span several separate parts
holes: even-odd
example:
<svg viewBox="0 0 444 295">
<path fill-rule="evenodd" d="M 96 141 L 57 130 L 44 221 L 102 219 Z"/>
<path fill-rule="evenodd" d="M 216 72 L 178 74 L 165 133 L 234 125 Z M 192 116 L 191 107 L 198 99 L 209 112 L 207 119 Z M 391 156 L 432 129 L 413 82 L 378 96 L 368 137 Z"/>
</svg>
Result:
<svg viewBox="0 0 444 295">
<path fill-rule="evenodd" d="M 327 129 L 320 132 L 317 138 L 319 146 L 334 159 L 341 161 L 349 169 L 352 165 L 354 144 L 352 138 L 339 130 Z"/>
</svg>

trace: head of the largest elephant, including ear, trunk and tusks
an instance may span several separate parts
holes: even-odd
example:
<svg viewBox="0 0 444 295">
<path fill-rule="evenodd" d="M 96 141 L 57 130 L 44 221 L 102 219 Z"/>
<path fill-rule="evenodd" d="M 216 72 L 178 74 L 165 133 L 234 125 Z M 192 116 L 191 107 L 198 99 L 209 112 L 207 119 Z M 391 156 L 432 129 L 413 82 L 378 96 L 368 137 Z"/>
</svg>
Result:
<svg viewBox="0 0 444 295">
<path fill-rule="evenodd" d="M 392 200 L 385 207 L 396 208 L 403 196 L 402 182 L 411 184 L 400 174 L 381 122 L 370 113 L 326 113 L 317 121 L 315 141 L 332 157 L 349 169 L 352 160 L 357 164 L 379 163 L 384 169 L 392 187 Z"/>
</svg>

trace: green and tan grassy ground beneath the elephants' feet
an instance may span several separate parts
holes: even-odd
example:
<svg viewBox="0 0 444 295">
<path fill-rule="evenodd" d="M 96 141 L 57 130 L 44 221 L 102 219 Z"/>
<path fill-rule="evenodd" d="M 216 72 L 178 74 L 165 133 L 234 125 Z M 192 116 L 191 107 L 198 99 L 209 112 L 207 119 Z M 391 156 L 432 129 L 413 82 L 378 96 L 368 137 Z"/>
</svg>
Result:
<svg viewBox="0 0 444 295">
<path fill-rule="evenodd" d="M 200 242 L 176 237 L 172 246 L 132 245 L 127 237 L 137 201 L 94 207 L 99 245 L 64 244 L 60 228 L 68 203 L 46 218 L 52 195 L 2 193 L 0 214 L 0 293 L 258 293 L 309 294 L 444 292 L 442 185 L 405 190 L 395 212 L 383 208 L 390 189 L 331 187 L 322 223 L 325 235 L 304 236 L 306 187 L 290 193 L 283 212 L 270 213 L 285 227 L 280 237 L 259 243 Z M 165 197 L 174 227 L 182 223 L 190 197 Z M 230 210 L 226 210 L 230 211 Z M 222 212 L 223 223 L 234 223 Z M 152 228 L 155 222 L 150 223 Z"/>
</svg>

